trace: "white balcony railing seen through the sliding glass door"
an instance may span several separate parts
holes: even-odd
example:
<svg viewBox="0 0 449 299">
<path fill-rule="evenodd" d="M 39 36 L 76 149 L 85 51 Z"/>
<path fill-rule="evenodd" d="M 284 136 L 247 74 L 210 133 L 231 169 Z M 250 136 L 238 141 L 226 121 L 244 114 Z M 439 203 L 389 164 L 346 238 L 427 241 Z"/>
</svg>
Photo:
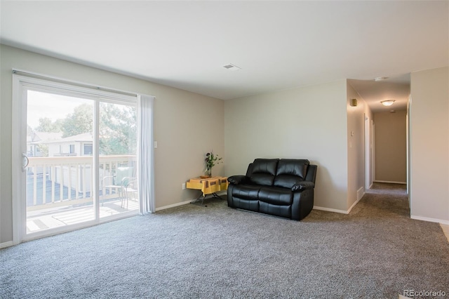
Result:
<svg viewBox="0 0 449 299">
<path fill-rule="evenodd" d="M 119 197 L 105 188 L 102 178 L 115 175 L 117 167 L 135 169 L 134 155 L 100 156 L 100 201 Z M 29 157 L 27 211 L 93 202 L 93 157 Z"/>
</svg>

